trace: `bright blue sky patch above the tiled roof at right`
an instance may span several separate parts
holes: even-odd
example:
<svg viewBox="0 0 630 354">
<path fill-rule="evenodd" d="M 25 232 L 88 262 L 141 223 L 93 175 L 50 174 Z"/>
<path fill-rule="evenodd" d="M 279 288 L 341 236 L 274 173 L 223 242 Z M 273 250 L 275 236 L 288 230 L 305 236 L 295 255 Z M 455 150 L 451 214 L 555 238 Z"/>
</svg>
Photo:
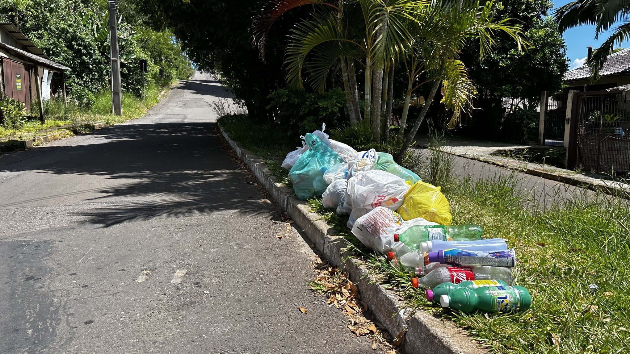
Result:
<svg viewBox="0 0 630 354">
<path fill-rule="evenodd" d="M 570 0 L 554 0 L 554 5 L 556 8 L 559 6 L 563 6 L 566 3 L 569 3 Z M 613 28 L 616 26 L 613 26 Z M 592 45 L 597 48 L 599 45 L 608 38 L 612 31 L 608 31 L 607 33 L 602 33 L 599 36 L 599 39 L 595 40 L 595 26 L 577 26 L 570 28 L 564 31 L 562 37 L 564 38 L 564 42 L 566 42 L 566 56 L 571 59 L 570 69 L 574 69 L 578 65 L 575 62 L 576 59 L 581 60 L 587 56 L 587 47 Z M 622 47 L 627 48 L 630 46 L 630 43 L 623 43 Z"/>
</svg>

